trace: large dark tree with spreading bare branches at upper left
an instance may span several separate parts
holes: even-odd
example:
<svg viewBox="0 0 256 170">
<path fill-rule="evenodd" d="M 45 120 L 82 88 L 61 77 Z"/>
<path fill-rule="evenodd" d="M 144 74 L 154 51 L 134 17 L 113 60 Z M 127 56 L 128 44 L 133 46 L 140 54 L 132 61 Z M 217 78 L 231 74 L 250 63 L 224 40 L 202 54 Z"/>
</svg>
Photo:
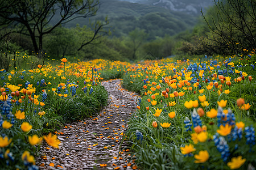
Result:
<svg viewBox="0 0 256 170">
<path fill-rule="evenodd" d="M 30 36 L 40 57 L 44 35 L 61 24 L 96 15 L 98 5 L 98 0 L 0 0 L 0 27 L 14 24 L 13 32 Z"/>
</svg>

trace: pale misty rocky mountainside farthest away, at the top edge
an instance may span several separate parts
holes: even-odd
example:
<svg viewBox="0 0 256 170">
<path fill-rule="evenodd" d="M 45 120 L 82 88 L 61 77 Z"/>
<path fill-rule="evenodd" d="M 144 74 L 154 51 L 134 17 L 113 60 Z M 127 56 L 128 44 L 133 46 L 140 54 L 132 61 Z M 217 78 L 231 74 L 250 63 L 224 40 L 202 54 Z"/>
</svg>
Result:
<svg viewBox="0 0 256 170">
<path fill-rule="evenodd" d="M 187 14 L 199 15 L 201 8 L 213 5 L 213 0 L 119 0 L 131 3 L 141 3 L 164 7 L 171 11 L 180 11 Z"/>
</svg>

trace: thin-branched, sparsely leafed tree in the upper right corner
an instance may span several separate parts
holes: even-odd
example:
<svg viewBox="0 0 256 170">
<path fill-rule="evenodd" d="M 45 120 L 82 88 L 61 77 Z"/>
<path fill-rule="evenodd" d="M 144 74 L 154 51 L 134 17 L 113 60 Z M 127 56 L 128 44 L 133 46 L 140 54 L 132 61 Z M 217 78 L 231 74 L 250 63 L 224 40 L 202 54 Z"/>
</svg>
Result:
<svg viewBox="0 0 256 170">
<path fill-rule="evenodd" d="M 256 1 L 214 0 L 214 3 L 215 16 L 209 19 L 201 11 L 210 29 L 206 44 L 245 57 L 256 48 Z"/>
</svg>

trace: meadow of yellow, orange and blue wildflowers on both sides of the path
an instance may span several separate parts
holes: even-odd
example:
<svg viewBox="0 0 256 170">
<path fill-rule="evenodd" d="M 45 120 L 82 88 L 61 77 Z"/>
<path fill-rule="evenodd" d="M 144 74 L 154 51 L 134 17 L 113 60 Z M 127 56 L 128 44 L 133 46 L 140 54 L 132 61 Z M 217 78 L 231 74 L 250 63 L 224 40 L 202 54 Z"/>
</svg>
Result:
<svg viewBox="0 0 256 170">
<path fill-rule="evenodd" d="M 62 58 L 2 69 L 1 165 L 38 169 L 40 143 L 58 148 L 55 131 L 95 116 L 108 104 L 102 80 L 122 78 L 124 88 L 138 93 L 122 138 L 134 169 L 254 168 L 255 62 L 252 52 L 246 59 L 139 63 Z"/>
</svg>

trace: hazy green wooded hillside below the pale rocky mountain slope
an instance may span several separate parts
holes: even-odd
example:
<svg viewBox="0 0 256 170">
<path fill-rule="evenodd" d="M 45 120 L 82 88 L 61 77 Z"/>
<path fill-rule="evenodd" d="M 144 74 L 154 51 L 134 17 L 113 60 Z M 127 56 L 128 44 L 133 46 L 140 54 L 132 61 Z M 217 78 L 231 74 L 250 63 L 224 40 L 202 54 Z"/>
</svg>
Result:
<svg viewBox="0 0 256 170">
<path fill-rule="evenodd" d="M 105 17 L 108 16 L 112 36 L 117 37 L 126 36 L 135 28 L 145 29 L 149 39 L 175 35 L 187 28 L 192 28 L 197 21 L 197 16 L 167 10 L 160 6 L 118 0 L 101 0 L 100 2 L 97 15 L 90 20 L 105 20 Z M 64 26 L 76 27 L 76 24 L 89 25 L 89 19 L 76 19 Z"/>
</svg>

